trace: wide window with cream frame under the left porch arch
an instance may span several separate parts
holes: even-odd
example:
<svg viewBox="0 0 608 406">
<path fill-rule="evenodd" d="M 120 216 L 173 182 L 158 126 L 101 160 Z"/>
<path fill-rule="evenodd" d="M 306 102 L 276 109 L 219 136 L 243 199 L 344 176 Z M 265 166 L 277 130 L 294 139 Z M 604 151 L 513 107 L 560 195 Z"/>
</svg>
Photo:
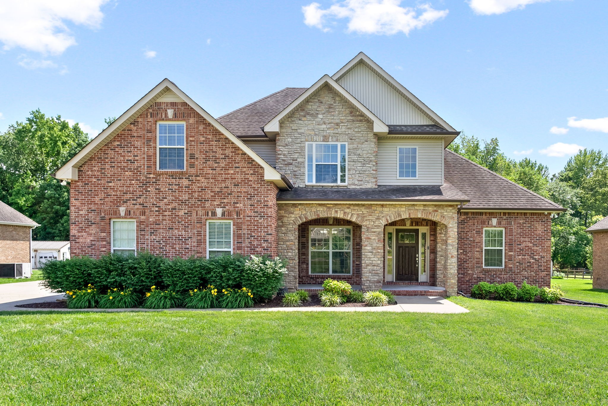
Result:
<svg viewBox="0 0 608 406">
<path fill-rule="evenodd" d="M 311 227 L 310 273 L 350 275 L 352 233 L 351 227 Z"/>
</svg>

